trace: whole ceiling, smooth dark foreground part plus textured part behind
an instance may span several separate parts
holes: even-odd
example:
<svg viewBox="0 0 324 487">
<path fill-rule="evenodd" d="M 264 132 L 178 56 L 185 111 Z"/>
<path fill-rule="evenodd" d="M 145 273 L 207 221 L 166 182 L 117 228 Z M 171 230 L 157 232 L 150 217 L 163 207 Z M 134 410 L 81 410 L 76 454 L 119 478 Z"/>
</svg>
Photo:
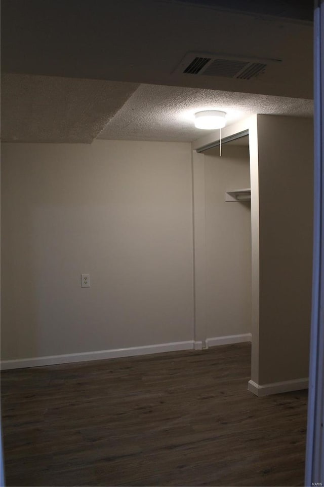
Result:
<svg viewBox="0 0 324 487">
<path fill-rule="evenodd" d="M 202 108 L 311 117 L 312 23 L 221 4 L 2 0 L 2 140 L 189 141 Z M 189 51 L 281 62 L 254 81 L 177 72 Z"/>
</svg>

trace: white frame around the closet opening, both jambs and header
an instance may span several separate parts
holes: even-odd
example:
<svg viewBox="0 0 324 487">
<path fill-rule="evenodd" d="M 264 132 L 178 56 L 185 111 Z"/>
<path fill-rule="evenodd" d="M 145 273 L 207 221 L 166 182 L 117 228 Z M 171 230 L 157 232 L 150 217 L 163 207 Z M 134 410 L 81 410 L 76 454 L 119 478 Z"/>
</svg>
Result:
<svg viewBox="0 0 324 487">
<path fill-rule="evenodd" d="M 257 115 L 222 129 L 222 141 L 249 135 L 251 180 L 251 245 L 252 245 L 252 360 L 251 381 L 259 383 L 259 164 Z M 206 203 L 205 156 L 207 149 L 220 144 L 219 131 L 194 141 L 192 148 L 193 191 L 193 264 L 194 264 L 194 341 L 206 347 Z M 201 344 L 201 345 L 200 345 Z M 250 381 L 250 382 L 251 382 Z M 254 394 L 258 389 L 249 385 Z"/>
</svg>

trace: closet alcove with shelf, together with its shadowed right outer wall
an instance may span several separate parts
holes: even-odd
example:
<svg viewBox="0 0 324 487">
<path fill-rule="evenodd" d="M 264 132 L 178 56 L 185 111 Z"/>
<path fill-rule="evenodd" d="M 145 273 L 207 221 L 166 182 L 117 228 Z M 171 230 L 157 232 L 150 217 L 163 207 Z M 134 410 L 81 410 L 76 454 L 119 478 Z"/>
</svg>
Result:
<svg viewBox="0 0 324 487">
<path fill-rule="evenodd" d="M 219 138 L 192 143 L 195 340 L 251 341 L 258 396 L 307 388 L 312 120 L 253 115 L 222 130 L 222 155 Z"/>
</svg>

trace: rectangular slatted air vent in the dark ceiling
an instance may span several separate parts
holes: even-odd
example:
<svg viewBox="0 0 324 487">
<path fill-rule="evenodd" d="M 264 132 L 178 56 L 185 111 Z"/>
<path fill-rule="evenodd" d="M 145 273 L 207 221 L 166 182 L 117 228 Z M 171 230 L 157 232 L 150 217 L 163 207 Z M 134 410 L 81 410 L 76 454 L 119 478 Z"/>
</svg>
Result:
<svg viewBox="0 0 324 487">
<path fill-rule="evenodd" d="M 223 54 L 188 53 L 175 70 L 204 76 L 221 76 L 250 80 L 263 74 L 269 64 L 281 62 L 279 59 L 255 59 L 234 57 Z"/>
</svg>

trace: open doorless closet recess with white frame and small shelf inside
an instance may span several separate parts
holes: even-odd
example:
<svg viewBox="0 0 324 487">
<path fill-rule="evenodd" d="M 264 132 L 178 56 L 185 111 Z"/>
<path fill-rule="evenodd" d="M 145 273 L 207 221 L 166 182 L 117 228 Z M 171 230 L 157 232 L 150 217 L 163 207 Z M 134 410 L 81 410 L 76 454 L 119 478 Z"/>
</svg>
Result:
<svg viewBox="0 0 324 487">
<path fill-rule="evenodd" d="M 257 116 L 225 127 L 221 141 L 215 131 L 192 143 L 195 343 L 251 342 L 251 380 L 259 360 L 257 144 Z"/>
</svg>

